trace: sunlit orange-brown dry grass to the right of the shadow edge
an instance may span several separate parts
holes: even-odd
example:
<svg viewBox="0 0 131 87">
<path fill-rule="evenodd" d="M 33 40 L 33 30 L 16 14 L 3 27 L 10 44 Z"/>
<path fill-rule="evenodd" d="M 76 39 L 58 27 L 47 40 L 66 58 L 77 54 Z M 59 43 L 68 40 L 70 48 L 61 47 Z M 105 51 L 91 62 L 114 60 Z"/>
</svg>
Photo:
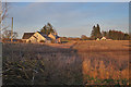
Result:
<svg viewBox="0 0 131 87">
<path fill-rule="evenodd" d="M 119 40 L 79 42 L 74 49 L 83 59 L 83 82 L 129 84 L 129 41 Z"/>
</svg>

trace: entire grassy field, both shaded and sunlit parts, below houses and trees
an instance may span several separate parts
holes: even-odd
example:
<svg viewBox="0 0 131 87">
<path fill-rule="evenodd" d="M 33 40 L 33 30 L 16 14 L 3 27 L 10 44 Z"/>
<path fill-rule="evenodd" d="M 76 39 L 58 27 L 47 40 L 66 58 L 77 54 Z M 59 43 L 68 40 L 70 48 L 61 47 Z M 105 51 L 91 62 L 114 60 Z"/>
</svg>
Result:
<svg viewBox="0 0 131 87">
<path fill-rule="evenodd" d="M 129 41 L 3 44 L 3 85 L 128 85 Z"/>
</svg>

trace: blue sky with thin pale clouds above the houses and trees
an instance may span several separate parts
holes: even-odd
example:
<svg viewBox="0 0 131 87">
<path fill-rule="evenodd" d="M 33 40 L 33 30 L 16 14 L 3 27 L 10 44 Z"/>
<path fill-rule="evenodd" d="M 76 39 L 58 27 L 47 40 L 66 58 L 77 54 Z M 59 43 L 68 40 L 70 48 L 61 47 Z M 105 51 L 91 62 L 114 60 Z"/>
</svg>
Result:
<svg viewBox="0 0 131 87">
<path fill-rule="evenodd" d="M 102 30 L 129 30 L 128 2 L 11 2 L 9 7 L 9 17 L 14 17 L 20 38 L 48 22 L 60 36 L 68 37 L 90 36 L 96 24 Z"/>
</svg>

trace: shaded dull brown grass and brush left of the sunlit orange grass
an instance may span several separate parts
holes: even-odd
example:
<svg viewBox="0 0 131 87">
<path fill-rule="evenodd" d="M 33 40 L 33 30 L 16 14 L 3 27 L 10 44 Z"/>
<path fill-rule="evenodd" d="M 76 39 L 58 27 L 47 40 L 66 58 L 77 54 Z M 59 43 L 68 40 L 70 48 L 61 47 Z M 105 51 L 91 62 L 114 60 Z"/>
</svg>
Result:
<svg viewBox="0 0 131 87">
<path fill-rule="evenodd" d="M 3 84 L 79 85 L 82 84 L 82 60 L 72 49 L 5 44 Z"/>
</svg>

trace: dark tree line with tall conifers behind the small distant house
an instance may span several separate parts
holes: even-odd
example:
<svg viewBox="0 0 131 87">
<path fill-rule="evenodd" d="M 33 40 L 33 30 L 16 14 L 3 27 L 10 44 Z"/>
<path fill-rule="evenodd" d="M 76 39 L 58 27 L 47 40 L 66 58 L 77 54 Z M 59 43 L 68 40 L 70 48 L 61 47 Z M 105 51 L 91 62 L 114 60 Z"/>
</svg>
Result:
<svg viewBox="0 0 131 87">
<path fill-rule="evenodd" d="M 85 35 L 81 36 L 82 40 L 96 40 L 97 38 L 106 37 L 107 39 L 112 40 L 130 40 L 131 36 L 128 33 L 122 33 L 121 30 L 112 30 L 109 29 L 107 32 L 100 32 L 100 26 L 97 24 L 93 26 L 91 37 L 86 37 Z"/>
</svg>

